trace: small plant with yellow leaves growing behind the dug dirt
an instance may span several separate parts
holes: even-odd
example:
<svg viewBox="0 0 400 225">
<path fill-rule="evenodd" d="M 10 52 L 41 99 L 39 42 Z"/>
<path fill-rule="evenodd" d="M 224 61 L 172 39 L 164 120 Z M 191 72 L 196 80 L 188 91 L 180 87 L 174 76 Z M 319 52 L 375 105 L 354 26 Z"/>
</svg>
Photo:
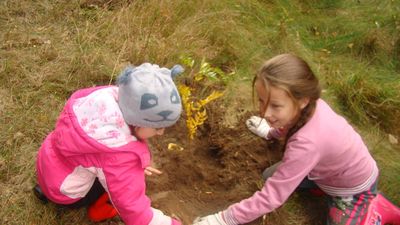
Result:
<svg viewBox="0 0 400 225">
<path fill-rule="evenodd" d="M 182 64 L 189 68 L 189 75 L 186 84 L 178 85 L 179 93 L 182 97 L 183 108 L 186 114 L 186 127 L 189 138 L 193 139 L 197 128 L 207 120 L 207 110 L 205 105 L 223 96 L 223 91 L 213 90 L 206 97 L 197 93 L 203 93 L 206 86 L 212 86 L 213 83 L 223 82 L 224 86 L 233 73 L 226 74 L 221 69 L 212 67 L 204 59 L 199 67 L 196 67 L 195 61 L 190 57 L 182 58 Z M 211 84 L 210 84 L 211 83 Z M 208 84 L 208 85 L 207 85 Z"/>
</svg>

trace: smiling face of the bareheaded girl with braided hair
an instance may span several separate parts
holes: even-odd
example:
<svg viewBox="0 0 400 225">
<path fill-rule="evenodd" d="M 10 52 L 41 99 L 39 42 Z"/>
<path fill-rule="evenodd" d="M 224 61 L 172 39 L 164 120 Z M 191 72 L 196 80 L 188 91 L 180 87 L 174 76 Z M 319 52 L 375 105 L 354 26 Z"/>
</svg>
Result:
<svg viewBox="0 0 400 225">
<path fill-rule="evenodd" d="M 262 81 L 256 81 L 255 88 L 261 117 L 264 117 L 273 128 L 290 129 L 296 123 L 300 110 L 307 105 L 303 106 L 301 102 L 296 104 L 285 90 L 274 86 L 270 87 L 268 101 L 268 93 Z"/>
</svg>

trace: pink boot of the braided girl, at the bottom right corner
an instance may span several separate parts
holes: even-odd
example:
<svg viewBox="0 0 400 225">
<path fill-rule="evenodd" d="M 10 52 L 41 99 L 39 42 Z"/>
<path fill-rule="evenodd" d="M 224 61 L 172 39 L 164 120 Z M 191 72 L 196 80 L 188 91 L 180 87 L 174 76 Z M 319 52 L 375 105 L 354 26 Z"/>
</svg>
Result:
<svg viewBox="0 0 400 225">
<path fill-rule="evenodd" d="M 377 194 L 368 207 L 362 225 L 400 225 L 400 208 L 383 195 Z"/>
</svg>

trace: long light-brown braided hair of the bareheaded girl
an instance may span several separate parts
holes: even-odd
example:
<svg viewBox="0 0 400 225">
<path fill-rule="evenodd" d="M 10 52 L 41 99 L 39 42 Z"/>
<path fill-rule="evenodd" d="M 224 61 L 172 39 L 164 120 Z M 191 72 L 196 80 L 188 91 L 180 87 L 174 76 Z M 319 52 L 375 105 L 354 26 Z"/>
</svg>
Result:
<svg viewBox="0 0 400 225">
<path fill-rule="evenodd" d="M 321 96 L 319 81 L 310 66 L 293 54 L 281 54 L 267 60 L 255 76 L 253 87 L 257 80 L 263 81 L 267 93 L 271 86 L 282 88 L 297 105 L 299 100 L 309 99 L 307 106 L 301 110 L 296 124 L 287 132 L 286 146 L 287 140 L 304 126 L 314 112 L 316 102 Z"/>
</svg>

